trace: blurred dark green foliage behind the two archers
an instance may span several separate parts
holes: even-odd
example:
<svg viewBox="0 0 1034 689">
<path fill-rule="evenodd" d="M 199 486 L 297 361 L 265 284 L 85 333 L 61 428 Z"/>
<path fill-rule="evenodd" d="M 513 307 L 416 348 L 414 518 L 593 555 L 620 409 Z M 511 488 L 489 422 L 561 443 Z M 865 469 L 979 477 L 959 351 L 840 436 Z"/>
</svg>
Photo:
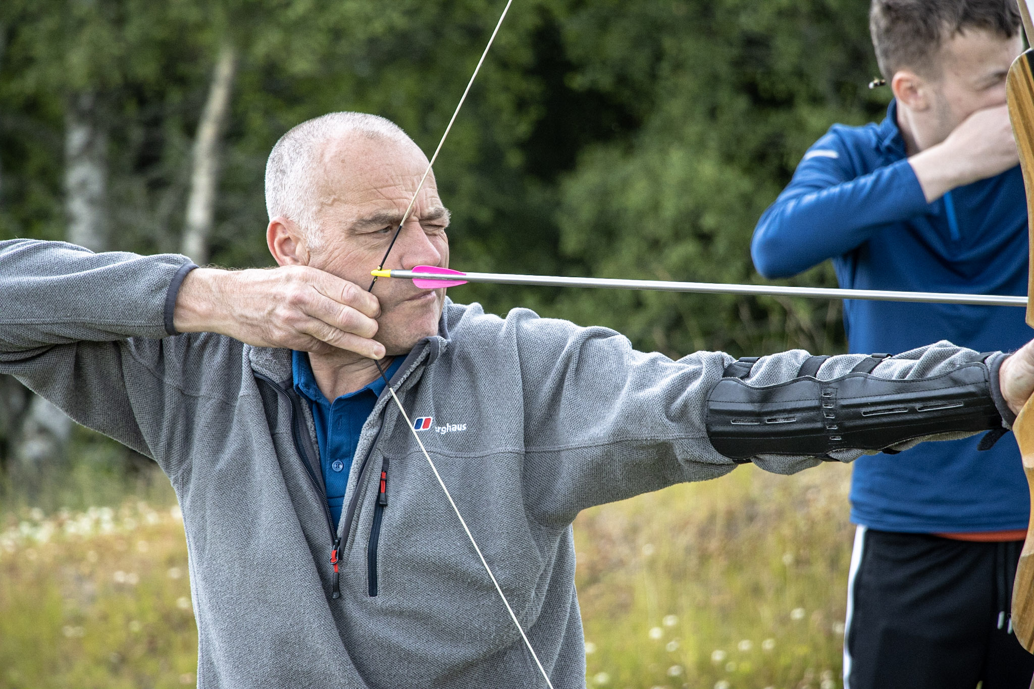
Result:
<svg viewBox="0 0 1034 689">
<path fill-rule="evenodd" d="M 831 123 L 881 117 L 860 0 L 521 0 L 436 165 L 453 264 L 751 282 L 754 223 Z M 179 246 L 189 153 L 218 46 L 242 54 L 215 262 L 265 265 L 276 138 L 334 109 L 437 142 L 503 2 L 5 0 L 0 238 L 60 239 L 70 94 L 111 125 L 115 248 Z M 795 282 L 831 285 L 827 268 Z M 505 312 L 606 324 L 681 355 L 843 348 L 840 305 L 492 285 Z"/>
</svg>

